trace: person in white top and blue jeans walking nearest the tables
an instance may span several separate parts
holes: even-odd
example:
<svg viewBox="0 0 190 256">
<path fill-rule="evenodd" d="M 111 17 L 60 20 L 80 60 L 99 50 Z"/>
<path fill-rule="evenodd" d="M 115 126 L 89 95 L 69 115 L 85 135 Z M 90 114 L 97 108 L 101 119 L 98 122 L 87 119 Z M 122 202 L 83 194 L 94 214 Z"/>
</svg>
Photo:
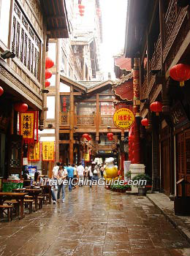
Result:
<svg viewBox="0 0 190 256">
<path fill-rule="evenodd" d="M 60 198 L 60 193 L 62 191 L 62 202 L 64 203 L 64 197 L 65 197 L 65 187 L 66 184 L 64 184 L 64 181 L 66 180 L 67 176 L 67 170 L 60 165 L 57 175 L 57 181 L 58 181 L 58 197 L 57 200 Z"/>
</svg>

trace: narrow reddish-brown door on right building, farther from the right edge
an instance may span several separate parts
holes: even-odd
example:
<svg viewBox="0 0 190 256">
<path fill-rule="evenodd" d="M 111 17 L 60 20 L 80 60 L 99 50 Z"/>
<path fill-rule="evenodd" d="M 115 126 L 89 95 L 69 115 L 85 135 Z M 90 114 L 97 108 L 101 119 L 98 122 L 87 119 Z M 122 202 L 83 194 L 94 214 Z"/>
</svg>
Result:
<svg viewBox="0 0 190 256">
<path fill-rule="evenodd" d="M 170 138 L 161 141 L 161 182 L 163 192 L 170 195 Z"/>
</svg>

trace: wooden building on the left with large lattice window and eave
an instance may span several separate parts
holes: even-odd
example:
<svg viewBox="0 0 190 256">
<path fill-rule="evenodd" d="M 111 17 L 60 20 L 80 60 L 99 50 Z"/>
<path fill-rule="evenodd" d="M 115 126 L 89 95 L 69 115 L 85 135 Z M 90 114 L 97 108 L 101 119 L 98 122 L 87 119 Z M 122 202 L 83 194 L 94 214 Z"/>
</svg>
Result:
<svg viewBox="0 0 190 256">
<path fill-rule="evenodd" d="M 68 37 L 65 1 L 44 3 L 0 1 L 0 86 L 4 90 L 0 97 L 0 176 L 20 174 L 23 167 L 23 140 L 18 135 L 15 103 L 27 103 L 28 110 L 39 111 L 43 129 L 47 37 Z"/>
</svg>

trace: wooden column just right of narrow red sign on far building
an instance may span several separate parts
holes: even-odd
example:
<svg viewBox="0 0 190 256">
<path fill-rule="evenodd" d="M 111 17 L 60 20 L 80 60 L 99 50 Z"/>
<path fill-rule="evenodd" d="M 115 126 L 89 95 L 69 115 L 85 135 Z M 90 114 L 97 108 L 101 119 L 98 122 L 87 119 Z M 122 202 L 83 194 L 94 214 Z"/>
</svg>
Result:
<svg viewBox="0 0 190 256">
<path fill-rule="evenodd" d="M 69 163 L 73 164 L 73 129 L 74 129 L 74 118 L 75 118 L 75 105 L 74 105 L 74 90 L 71 86 L 70 94 L 70 132 L 69 132 Z"/>
</svg>

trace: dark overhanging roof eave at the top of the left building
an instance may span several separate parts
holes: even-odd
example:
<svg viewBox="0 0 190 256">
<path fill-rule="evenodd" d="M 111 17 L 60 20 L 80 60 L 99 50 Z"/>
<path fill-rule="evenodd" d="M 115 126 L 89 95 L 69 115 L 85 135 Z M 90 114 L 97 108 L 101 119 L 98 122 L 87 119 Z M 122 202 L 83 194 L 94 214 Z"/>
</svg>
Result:
<svg viewBox="0 0 190 256">
<path fill-rule="evenodd" d="M 40 4 L 47 19 L 49 38 L 68 38 L 69 23 L 65 0 L 40 0 Z"/>
</svg>

